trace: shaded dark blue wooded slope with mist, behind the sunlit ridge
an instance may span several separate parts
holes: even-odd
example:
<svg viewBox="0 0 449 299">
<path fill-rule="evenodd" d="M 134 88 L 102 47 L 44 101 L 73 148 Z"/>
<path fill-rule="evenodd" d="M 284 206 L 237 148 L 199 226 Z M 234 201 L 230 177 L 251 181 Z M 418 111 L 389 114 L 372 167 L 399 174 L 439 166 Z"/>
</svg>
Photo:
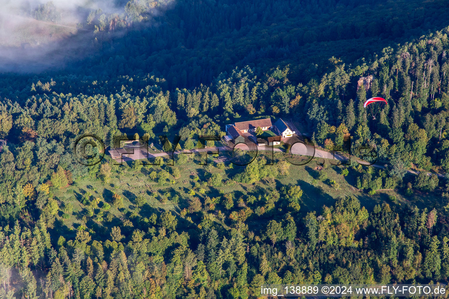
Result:
<svg viewBox="0 0 449 299">
<path fill-rule="evenodd" d="M 53 4 L 61 22 L 45 23 L 40 32 L 5 30 L 4 40 L 22 41 L 13 51 L 2 49 L 2 70 L 45 70 L 53 77 L 62 68 L 70 74 L 107 77 L 150 73 L 166 78 L 175 89 L 209 84 L 234 66 L 255 67 L 261 76 L 266 69 L 290 64 L 292 79 L 304 84 L 321 77 L 331 56 L 345 63 L 369 59 L 388 45 L 441 30 L 447 24 L 435 16 L 448 13 L 446 5 L 414 0 Z M 31 17 L 32 9 L 23 13 Z M 27 39 L 31 34 L 33 39 Z"/>
</svg>

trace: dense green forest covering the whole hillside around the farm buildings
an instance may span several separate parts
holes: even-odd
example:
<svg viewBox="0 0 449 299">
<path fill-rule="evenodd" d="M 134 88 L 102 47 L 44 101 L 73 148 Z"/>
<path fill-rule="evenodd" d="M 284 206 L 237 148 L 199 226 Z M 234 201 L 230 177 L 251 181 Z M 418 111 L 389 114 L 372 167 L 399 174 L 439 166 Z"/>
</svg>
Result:
<svg viewBox="0 0 449 299">
<path fill-rule="evenodd" d="M 448 282 L 445 1 L 120 5 L 77 25 L 93 31 L 88 56 L 0 74 L 1 299 Z M 30 16 L 59 14 L 46 4 Z M 363 107 L 374 96 L 387 100 L 375 119 Z M 107 155 L 116 136 L 191 150 L 198 136 L 265 117 L 291 120 L 323 150 L 374 148 L 377 166 Z M 104 141 L 88 147 L 106 152 L 99 163 L 77 160 L 82 134 Z"/>
</svg>

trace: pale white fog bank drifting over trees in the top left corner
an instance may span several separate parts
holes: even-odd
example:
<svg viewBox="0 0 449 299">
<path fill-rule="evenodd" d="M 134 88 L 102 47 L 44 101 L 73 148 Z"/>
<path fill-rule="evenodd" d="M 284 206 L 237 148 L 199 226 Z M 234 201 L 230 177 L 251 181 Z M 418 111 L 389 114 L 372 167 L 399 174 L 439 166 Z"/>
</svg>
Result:
<svg viewBox="0 0 449 299">
<path fill-rule="evenodd" d="M 40 72 L 93 54 L 96 19 L 122 14 L 126 3 L 0 0 L 0 72 Z"/>
</svg>

